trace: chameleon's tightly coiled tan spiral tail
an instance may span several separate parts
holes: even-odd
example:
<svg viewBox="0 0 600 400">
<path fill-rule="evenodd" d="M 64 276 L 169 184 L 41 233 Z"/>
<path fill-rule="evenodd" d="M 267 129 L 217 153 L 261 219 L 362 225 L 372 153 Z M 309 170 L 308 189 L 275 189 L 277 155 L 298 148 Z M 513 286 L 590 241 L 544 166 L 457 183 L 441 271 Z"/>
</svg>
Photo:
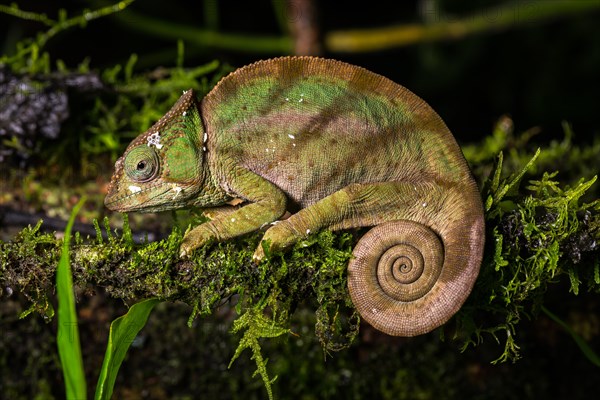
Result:
<svg viewBox="0 0 600 400">
<path fill-rule="evenodd" d="M 469 234 L 459 228 L 451 235 L 455 240 L 444 242 L 409 220 L 372 228 L 348 266 L 350 296 L 361 317 L 393 336 L 420 335 L 444 324 L 477 277 L 481 252 L 470 254 L 469 242 L 478 239 L 473 231 L 483 234 L 482 229 L 481 224 Z"/>
</svg>

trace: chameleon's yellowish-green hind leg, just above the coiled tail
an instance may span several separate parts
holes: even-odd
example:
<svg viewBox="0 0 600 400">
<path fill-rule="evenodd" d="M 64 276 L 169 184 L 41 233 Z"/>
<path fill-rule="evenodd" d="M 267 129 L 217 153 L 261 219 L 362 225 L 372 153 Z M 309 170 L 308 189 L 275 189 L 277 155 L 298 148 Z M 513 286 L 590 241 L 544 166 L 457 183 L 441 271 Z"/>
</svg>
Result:
<svg viewBox="0 0 600 400">
<path fill-rule="evenodd" d="M 446 193 L 446 194 L 445 194 Z M 352 184 L 301 209 L 269 228 L 263 237 L 270 250 L 285 249 L 311 232 L 373 226 L 398 219 L 423 219 L 435 213 L 448 191 L 429 183 Z M 262 245 L 255 259 L 264 257 Z"/>
</svg>

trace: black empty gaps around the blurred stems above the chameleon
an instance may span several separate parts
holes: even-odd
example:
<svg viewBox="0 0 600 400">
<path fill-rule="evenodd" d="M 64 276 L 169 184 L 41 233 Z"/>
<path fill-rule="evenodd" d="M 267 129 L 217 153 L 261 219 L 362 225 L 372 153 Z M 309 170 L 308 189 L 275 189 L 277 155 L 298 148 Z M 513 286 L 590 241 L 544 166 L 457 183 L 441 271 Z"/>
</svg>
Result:
<svg viewBox="0 0 600 400">
<path fill-rule="evenodd" d="M 555 1 L 555 0 L 549 0 Z M 577 0 L 594 1 L 594 0 Z M 495 21 L 489 7 L 500 1 L 442 1 L 447 18 L 485 13 Z M 83 7 L 94 9 L 101 3 L 69 1 L 61 7 L 76 15 Z M 578 140 L 598 132 L 600 104 L 600 28 L 598 12 L 585 12 L 544 22 L 527 21 L 531 1 L 517 1 L 510 29 L 467 36 L 458 40 L 421 43 L 386 51 L 323 56 L 341 59 L 380 73 L 408 87 L 424 98 L 446 121 L 459 141 L 477 140 L 487 135 L 494 122 L 509 114 L 516 130 L 533 126 L 541 130 L 538 140 L 562 137 L 561 121 L 573 124 Z M 19 2 L 24 10 L 43 11 L 56 18 L 49 3 Z M 316 2 L 321 34 L 350 29 L 381 27 L 421 20 L 419 2 L 370 1 L 363 3 Z M 219 1 L 218 30 L 221 32 L 282 35 L 269 1 Z M 53 59 L 76 67 L 86 58 L 92 69 L 124 63 L 137 53 L 140 70 L 174 64 L 176 42 L 139 32 L 128 22 L 127 13 L 161 18 L 171 23 L 202 27 L 202 2 L 138 1 L 120 13 L 120 18 L 91 21 L 85 29 L 74 28 L 51 39 L 46 50 Z M 294 10 L 285 18 L 296 18 Z M 504 10 L 504 12 L 507 12 Z M 430 12 L 439 21 L 438 13 Z M 525 21 L 519 20 L 524 18 Z M 42 28 L 37 22 L 24 22 L 0 15 L 0 41 L 4 54 L 14 51 L 15 40 L 32 36 Z M 218 59 L 234 67 L 281 53 L 251 54 L 186 44 L 185 65 L 195 66 Z"/>
</svg>

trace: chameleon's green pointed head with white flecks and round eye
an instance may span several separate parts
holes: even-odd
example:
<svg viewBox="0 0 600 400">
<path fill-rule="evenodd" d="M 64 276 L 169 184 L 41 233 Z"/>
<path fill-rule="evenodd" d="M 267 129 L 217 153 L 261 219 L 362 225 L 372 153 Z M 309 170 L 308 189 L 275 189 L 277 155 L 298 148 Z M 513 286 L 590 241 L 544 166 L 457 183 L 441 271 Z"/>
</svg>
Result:
<svg viewBox="0 0 600 400">
<path fill-rule="evenodd" d="M 203 132 L 196 97 L 188 90 L 117 160 L 106 207 L 156 212 L 185 206 L 206 175 Z"/>
</svg>

